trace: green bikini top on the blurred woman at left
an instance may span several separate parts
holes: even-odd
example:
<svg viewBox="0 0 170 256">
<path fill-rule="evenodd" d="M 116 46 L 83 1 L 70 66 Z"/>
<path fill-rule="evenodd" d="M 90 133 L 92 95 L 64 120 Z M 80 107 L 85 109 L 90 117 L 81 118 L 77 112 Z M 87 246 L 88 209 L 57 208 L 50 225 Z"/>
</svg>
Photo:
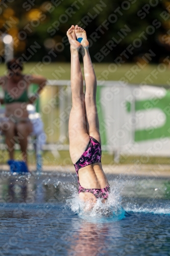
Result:
<svg viewBox="0 0 170 256">
<path fill-rule="evenodd" d="M 6 81 L 7 82 L 7 81 Z M 28 97 L 28 91 L 25 89 L 23 93 L 18 97 L 14 98 L 13 96 L 10 95 L 10 93 L 7 91 L 7 85 L 6 85 L 6 90 L 5 90 L 5 97 L 4 97 L 4 103 L 5 104 L 10 104 L 14 102 L 28 102 L 29 97 Z"/>
</svg>

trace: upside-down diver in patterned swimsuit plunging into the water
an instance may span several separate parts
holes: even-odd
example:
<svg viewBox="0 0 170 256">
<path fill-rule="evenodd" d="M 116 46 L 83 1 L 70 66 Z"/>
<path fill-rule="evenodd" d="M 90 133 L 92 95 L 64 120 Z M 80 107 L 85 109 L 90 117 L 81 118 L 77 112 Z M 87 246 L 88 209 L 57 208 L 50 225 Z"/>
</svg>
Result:
<svg viewBox="0 0 170 256">
<path fill-rule="evenodd" d="M 67 31 L 71 52 L 72 109 L 69 116 L 69 152 L 78 177 L 79 196 L 83 201 L 104 202 L 110 186 L 101 163 L 101 138 L 96 109 L 96 77 L 88 51 L 86 31 L 78 25 Z M 79 61 L 79 49 L 83 57 L 83 76 Z"/>
</svg>

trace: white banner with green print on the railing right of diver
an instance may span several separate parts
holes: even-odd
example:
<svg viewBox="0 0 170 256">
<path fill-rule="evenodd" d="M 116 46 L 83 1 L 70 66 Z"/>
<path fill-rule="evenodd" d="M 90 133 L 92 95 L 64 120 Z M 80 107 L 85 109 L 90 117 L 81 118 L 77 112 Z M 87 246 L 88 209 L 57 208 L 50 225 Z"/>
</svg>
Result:
<svg viewBox="0 0 170 256">
<path fill-rule="evenodd" d="M 170 92 L 155 86 L 98 88 L 102 142 L 124 155 L 170 155 Z M 99 109 L 100 109 L 99 108 Z"/>
</svg>

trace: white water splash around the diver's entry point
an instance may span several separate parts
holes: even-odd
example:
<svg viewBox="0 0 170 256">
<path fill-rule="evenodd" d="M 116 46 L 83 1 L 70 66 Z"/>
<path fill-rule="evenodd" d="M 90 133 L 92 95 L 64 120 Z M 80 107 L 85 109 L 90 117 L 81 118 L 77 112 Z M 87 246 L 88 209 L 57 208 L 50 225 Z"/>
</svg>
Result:
<svg viewBox="0 0 170 256">
<path fill-rule="evenodd" d="M 114 180 L 114 184 L 110 186 L 110 194 L 105 203 L 102 199 L 98 199 L 95 204 L 91 205 L 90 202 L 83 202 L 78 195 L 77 181 L 75 177 L 69 173 L 74 182 L 62 182 L 58 178 L 53 180 L 43 180 L 44 184 L 52 184 L 58 188 L 58 199 L 63 201 L 64 198 L 65 209 L 74 212 L 80 218 L 90 222 L 107 222 L 117 221 L 126 217 L 126 212 L 121 206 L 122 197 L 120 192 L 124 187 L 124 181 L 120 182 L 119 179 Z"/>
</svg>

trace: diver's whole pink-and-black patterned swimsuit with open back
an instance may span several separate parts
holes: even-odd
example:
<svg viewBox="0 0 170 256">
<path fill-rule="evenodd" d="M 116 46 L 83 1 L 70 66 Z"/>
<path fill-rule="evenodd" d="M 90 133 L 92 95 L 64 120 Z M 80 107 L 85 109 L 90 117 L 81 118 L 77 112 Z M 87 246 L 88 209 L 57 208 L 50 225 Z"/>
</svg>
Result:
<svg viewBox="0 0 170 256">
<path fill-rule="evenodd" d="M 89 164 L 101 162 L 102 149 L 101 144 L 90 136 L 90 141 L 86 147 L 85 152 L 82 154 L 80 159 L 74 164 L 77 177 L 78 177 L 78 189 L 80 192 L 92 193 L 96 198 L 108 198 L 110 186 L 107 185 L 105 188 L 84 188 L 79 182 L 79 169 L 83 168 Z"/>
</svg>

